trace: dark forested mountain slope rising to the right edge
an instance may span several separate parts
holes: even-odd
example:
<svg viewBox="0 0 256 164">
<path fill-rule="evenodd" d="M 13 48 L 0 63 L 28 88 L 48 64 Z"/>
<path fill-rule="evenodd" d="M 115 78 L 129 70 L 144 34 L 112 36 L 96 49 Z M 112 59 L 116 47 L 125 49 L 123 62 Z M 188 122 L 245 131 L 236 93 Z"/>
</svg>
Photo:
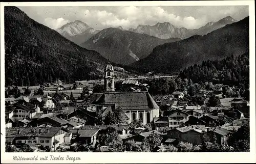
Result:
<svg viewBox="0 0 256 164">
<path fill-rule="evenodd" d="M 195 35 L 174 43 L 156 46 L 153 52 L 130 66 L 138 70 L 179 72 L 203 60 L 223 59 L 249 51 L 249 17 L 228 24 L 207 35 Z"/>
</svg>

